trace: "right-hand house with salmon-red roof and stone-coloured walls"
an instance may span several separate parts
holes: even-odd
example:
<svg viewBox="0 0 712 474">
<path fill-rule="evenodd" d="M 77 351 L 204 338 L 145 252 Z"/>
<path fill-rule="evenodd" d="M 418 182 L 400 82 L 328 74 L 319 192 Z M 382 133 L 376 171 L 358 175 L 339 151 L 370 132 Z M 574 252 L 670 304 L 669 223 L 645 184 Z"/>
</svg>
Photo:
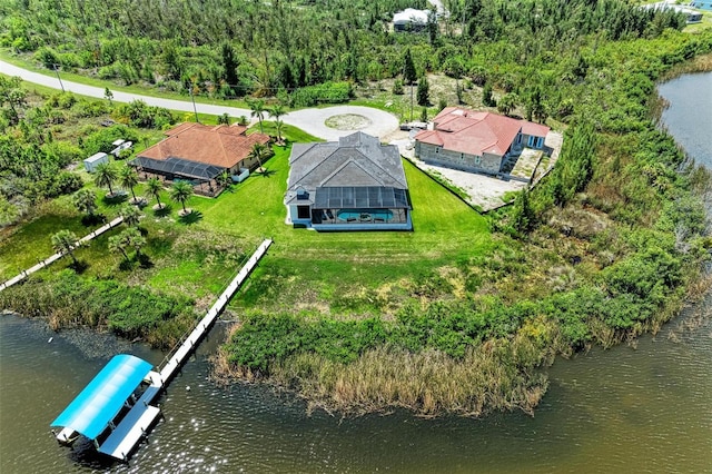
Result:
<svg viewBox="0 0 712 474">
<path fill-rule="evenodd" d="M 446 107 L 415 136 L 415 156 L 465 171 L 502 175 L 524 148 L 545 150 L 550 128 L 492 112 Z M 546 150 L 545 150 L 546 151 Z"/>
</svg>

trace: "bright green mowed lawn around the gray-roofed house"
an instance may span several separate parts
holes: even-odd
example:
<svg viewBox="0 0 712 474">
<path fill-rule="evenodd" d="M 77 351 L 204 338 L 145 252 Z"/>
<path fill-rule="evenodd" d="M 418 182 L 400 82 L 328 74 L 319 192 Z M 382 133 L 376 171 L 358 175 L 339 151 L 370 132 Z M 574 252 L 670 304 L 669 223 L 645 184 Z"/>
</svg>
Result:
<svg viewBox="0 0 712 474">
<path fill-rule="evenodd" d="M 237 306 L 289 305 L 289 302 L 333 302 L 352 292 L 376 290 L 384 285 L 413 280 L 441 266 L 486 253 L 492 247 L 486 219 L 451 195 L 414 166 L 404 162 L 413 201 L 414 231 L 316 233 L 285 224 L 289 147 L 275 147 L 266 172 L 254 174 L 231 190 L 210 199 L 194 196 L 187 206 L 196 213 L 177 216 L 180 205 L 162 216 L 144 209 L 140 227 L 147 237 L 142 250 L 150 265 L 121 266 L 107 240 L 123 226 L 77 251 L 83 273 L 117 278 L 196 298 L 219 293 L 263 238 L 274 246 L 248 280 Z M 92 185 L 87 185 L 92 187 Z M 142 187 L 136 188 L 141 194 Z M 120 205 L 102 199 L 99 211 L 113 218 Z M 162 203 L 170 203 L 164 192 Z M 63 228 L 83 236 L 85 226 L 68 196 L 48 203 L 34 220 L 6 229 L 0 243 L 0 278 L 34 265 L 53 253 L 50 236 Z M 69 266 L 63 259 L 49 270 Z"/>
</svg>

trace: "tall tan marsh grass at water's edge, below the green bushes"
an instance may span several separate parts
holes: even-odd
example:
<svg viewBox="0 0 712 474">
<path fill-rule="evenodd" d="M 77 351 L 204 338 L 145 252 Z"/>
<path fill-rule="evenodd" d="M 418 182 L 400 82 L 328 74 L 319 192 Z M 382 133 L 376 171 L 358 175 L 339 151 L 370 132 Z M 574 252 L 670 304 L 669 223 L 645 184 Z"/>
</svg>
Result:
<svg viewBox="0 0 712 474">
<path fill-rule="evenodd" d="M 230 364 L 222 348 L 214 368 L 224 383 L 266 381 L 287 387 L 310 409 L 360 415 L 406 408 L 426 417 L 516 409 L 531 414 L 548 387 L 540 367 L 551 364 L 561 346 L 556 326 L 540 319 L 512 337 L 471 346 L 462 358 L 393 345 L 365 350 L 348 364 L 297 353 L 275 363 L 265 378 Z"/>
</svg>

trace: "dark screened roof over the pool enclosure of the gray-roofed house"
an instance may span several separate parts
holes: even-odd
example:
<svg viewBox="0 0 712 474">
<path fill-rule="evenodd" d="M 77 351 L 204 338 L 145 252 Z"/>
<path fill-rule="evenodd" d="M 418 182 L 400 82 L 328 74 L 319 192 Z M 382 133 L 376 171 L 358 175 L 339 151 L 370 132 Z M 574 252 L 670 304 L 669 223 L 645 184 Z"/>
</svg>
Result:
<svg viewBox="0 0 712 474">
<path fill-rule="evenodd" d="M 384 186 L 334 186 L 316 188 L 315 209 L 409 209 L 405 189 Z"/>
</svg>

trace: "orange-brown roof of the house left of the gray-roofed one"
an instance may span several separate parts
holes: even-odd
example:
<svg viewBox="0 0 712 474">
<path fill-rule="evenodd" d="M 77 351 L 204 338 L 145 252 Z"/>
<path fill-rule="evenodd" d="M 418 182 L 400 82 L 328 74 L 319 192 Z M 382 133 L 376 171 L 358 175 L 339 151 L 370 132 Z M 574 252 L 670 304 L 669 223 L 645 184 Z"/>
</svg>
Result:
<svg viewBox="0 0 712 474">
<path fill-rule="evenodd" d="M 166 139 L 139 154 L 154 159 L 181 158 L 222 168 L 233 168 L 247 158 L 253 145 L 269 142 L 264 134 L 245 135 L 239 125 L 217 127 L 201 124 L 180 124 L 166 131 Z"/>
</svg>

